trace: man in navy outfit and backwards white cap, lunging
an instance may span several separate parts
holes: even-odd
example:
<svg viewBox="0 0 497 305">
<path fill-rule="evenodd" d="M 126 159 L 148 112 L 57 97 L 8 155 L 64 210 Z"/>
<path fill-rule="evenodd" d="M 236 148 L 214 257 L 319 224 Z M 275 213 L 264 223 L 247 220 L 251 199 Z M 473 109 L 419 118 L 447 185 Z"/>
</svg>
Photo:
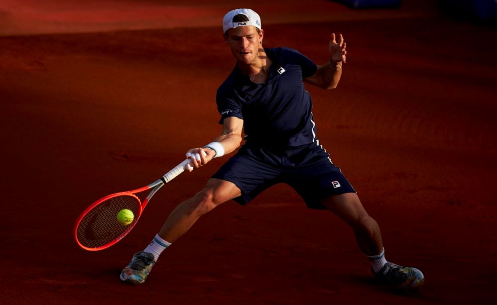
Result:
<svg viewBox="0 0 497 305">
<path fill-rule="evenodd" d="M 277 183 L 290 185 L 309 208 L 328 209 L 351 226 L 359 248 L 381 281 L 415 291 L 422 273 L 385 259 L 380 228 L 362 206 L 355 190 L 316 137 L 312 102 L 303 82 L 333 89 L 342 74 L 346 44 L 331 34 L 330 61 L 319 66 L 289 48 L 262 47 L 260 17 L 251 9 L 235 9 L 223 19 L 224 38 L 237 61 L 217 91 L 223 131 L 212 143 L 187 153 L 198 168 L 245 144 L 193 198 L 169 214 L 159 233 L 133 256 L 120 278 L 143 283 L 161 252 L 203 214 L 234 200 L 242 205 Z"/>
</svg>

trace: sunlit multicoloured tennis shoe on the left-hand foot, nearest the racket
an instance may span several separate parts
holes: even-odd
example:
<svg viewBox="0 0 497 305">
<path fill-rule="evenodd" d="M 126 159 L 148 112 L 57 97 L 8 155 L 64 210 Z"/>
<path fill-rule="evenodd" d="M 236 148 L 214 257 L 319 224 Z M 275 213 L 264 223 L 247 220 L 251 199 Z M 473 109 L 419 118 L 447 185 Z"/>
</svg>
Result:
<svg viewBox="0 0 497 305">
<path fill-rule="evenodd" d="M 154 254 L 140 251 L 133 255 L 133 259 L 129 265 L 123 269 L 119 278 L 125 283 L 142 284 L 145 282 L 154 266 Z"/>
</svg>

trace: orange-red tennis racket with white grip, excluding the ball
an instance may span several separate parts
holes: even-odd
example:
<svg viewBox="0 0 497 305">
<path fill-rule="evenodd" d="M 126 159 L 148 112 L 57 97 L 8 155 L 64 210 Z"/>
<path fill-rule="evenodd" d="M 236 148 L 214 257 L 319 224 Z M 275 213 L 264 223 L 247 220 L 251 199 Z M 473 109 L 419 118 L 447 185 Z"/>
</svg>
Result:
<svg viewBox="0 0 497 305">
<path fill-rule="evenodd" d="M 191 162 L 186 159 L 172 170 L 167 172 L 161 179 L 148 186 L 128 192 L 120 192 L 105 196 L 90 206 L 76 220 L 74 237 L 83 249 L 98 251 L 106 249 L 124 238 L 136 225 L 143 210 L 159 189 L 166 183 L 185 171 Z M 136 194 L 151 190 L 147 198 L 142 202 Z M 128 224 L 122 224 L 117 220 L 117 214 L 122 209 L 133 212 L 134 219 Z"/>
</svg>

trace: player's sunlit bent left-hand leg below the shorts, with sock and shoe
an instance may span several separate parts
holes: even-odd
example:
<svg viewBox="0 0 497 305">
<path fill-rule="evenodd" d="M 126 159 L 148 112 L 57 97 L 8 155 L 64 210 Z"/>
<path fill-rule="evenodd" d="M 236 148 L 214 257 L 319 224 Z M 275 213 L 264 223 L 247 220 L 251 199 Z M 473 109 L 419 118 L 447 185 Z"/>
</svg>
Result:
<svg viewBox="0 0 497 305">
<path fill-rule="evenodd" d="M 221 203 L 241 195 L 233 183 L 210 179 L 195 196 L 176 206 L 152 242 L 144 251 L 136 253 L 121 272 L 120 279 L 130 284 L 142 284 L 147 279 L 161 252 L 183 235 L 202 216 Z"/>
</svg>

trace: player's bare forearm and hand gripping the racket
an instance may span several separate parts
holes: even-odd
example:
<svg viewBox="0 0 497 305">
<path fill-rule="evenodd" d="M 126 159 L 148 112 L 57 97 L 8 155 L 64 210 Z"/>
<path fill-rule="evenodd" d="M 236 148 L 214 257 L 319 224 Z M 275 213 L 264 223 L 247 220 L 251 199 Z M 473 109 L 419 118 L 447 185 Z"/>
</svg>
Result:
<svg viewBox="0 0 497 305">
<path fill-rule="evenodd" d="M 214 142 L 217 142 L 222 145 L 224 149 L 224 154 L 229 154 L 240 147 L 242 143 L 242 132 L 244 128 L 244 120 L 238 118 L 236 116 L 229 116 L 223 120 L 223 131 L 221 134 L 214 139 Z M 205 156 L 202 153 L 205 152 Z M 214 157 L 216 157 L 216 151 L 209 147 L 198 147 L 192 148 L 188 150 L 189 153 L 195 154 L 198 153 L 200 155 L 200 161 L 197 161 L 195 158 L 192 159 L 191 165 L 195 168 L 200 167 L 201 165 L 206 164 Z"/>
</svg>

